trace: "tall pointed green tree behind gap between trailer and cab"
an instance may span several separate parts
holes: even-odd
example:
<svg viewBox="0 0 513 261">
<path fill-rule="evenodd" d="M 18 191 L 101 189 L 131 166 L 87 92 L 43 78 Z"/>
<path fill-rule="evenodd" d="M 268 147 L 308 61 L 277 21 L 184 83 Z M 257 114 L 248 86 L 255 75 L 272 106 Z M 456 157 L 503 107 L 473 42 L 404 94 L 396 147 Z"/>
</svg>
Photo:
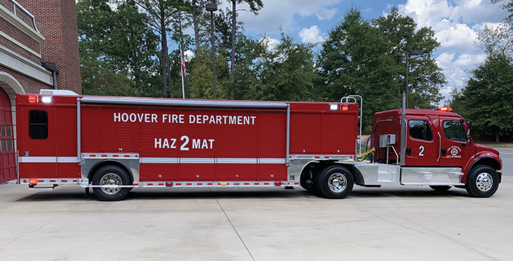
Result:
<svg viewBox="0 0 513 261">
<path fill-rule="evenodd" d="M 351 8 L 322 44 L 318 66 L 325 99 L 337 101 L 346 95 L 364 97 L 366 128 L 370 127 L 375 112 L 396 108 L 397 66 L 389 52 L 389 41 L 380 29 L 364 20 L 360 9 Z"/>
</svg>

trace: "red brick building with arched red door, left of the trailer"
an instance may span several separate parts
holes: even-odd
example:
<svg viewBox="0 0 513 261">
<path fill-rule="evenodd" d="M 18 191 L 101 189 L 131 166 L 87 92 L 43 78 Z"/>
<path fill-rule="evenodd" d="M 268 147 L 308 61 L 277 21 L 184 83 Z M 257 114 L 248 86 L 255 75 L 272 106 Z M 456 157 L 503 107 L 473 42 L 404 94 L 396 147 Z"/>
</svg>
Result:
<svg viewBox="0 0 513 261">
<path fill-rule="evenodd" d="M 16 93 L 54 88 L 81 93 L 75 0 L 0 0 L 0 182 L 16 178 Z"/>
</svg>

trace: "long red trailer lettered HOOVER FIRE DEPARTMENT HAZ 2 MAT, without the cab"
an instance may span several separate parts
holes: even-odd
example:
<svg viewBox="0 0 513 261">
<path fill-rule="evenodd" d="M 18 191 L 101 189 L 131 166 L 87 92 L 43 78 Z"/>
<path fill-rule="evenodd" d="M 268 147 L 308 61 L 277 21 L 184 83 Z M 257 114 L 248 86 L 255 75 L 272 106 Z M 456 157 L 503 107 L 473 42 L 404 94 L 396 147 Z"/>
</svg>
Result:
<svg viewBox="0 0 513 261">
<path fill-rule="evenodd" d="M 20 184 L 300 186 L 312 160 L 356 157 L 358 104 L 18 95 Z"/>
</svg>

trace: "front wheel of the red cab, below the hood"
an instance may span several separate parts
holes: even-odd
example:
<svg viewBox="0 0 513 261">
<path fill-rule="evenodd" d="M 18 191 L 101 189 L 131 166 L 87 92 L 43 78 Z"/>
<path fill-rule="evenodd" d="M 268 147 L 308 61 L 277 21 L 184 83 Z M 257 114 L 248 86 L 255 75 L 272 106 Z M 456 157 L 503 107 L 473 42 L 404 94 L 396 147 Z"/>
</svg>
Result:
<svg viewBox="0 0 513 261">
<path fill-rule="evenodd" d="M 499 175 L 491 166 L 475 166 L 466 178 L 465 188 L 474 198 L 488 198 L 499 188 Z"/>
</svg>

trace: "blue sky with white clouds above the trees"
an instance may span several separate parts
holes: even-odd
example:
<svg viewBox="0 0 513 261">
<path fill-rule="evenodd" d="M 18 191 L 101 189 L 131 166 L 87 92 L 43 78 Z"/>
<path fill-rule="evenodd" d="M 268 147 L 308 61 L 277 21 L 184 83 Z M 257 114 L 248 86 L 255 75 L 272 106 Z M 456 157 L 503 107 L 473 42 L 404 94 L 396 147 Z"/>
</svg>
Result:
<svg viewBox="0 0 513 261">
<path fill-rule="evenodd" d="M 404 1 L 346 1 L 346 0 L 264 0 L 258 16 L 240 11 L 239 20 L 246 33 L 253 37 L 265 34 L 272 41 L 279 39 L 279 27 L 297 42 L 320 43 L 327 32 L 339 23 L 344 13 L 356 6 L 368 19 L 378 18 L 392 7 L 402 15 L 414 18 L 418 27 L 431 27 L 441 43 L 434 58 L 444 70 L 447 85 L 440 91 L 449 99 L 454 88 L 464 87 L 469 70 L 485 59 L 481 49 L 473 47 L 478 32 L 485 25 L 497 25 L 507 13 L 500 4 L 490 0 L 404 0 Z M 227 4 L 223 4 L 227 7 Z M 238 9 L 247 9 L 241 4 Z M 442 102 L 443 103 L 443 102 Z"/>
</svg>

